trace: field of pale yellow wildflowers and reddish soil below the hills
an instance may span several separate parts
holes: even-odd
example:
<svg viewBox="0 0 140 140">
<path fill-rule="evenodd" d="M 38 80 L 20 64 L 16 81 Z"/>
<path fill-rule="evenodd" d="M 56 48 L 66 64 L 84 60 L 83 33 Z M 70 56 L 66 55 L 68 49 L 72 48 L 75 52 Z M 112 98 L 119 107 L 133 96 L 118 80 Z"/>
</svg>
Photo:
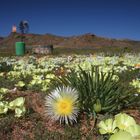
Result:
<svg viewBox="0 0 140 140">
<path fill-rule="evenodd" d="M 0 58 L 2 140 L 140 140 L 140 54 Z"/>
</svg>

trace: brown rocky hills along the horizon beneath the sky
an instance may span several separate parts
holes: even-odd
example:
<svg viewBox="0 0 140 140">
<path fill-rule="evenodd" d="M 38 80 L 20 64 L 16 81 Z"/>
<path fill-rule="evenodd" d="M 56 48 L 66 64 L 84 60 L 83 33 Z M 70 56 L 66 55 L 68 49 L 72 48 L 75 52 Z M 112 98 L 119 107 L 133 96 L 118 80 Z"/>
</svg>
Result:
<svg viewBox="0 0 140 140">
<path fill-rule="evenodd" d="M 0 48 L 13 47 L 16 41 L 20 41 L 20 34 L 11 33 L 8 37 L 0 38 Z M 54 47 L 60 48 L 140 48 L 140 41 L 109 39 L 90 33 L 71 37 L 61 37 L 52 34 L 27 34 L 24 36 L 24 41 L 27 46 L 32 47 L 53 44 Z"/>
</svg>

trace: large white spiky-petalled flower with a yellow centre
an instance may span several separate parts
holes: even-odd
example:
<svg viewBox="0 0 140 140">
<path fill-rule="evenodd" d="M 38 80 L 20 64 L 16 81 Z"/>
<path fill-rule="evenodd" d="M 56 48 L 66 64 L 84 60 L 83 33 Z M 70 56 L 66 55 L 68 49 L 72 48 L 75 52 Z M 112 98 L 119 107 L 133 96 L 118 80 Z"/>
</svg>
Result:
<svg viewBox="0 0 140 140">
<path fill-rule="evenodd" d="M 60 124 L 77 122 L 79 112 L 78 92 L 71 87 L 57 88 L 46 96 L 46 114 L 53 120 L 59 120 Z"/>
</svg>

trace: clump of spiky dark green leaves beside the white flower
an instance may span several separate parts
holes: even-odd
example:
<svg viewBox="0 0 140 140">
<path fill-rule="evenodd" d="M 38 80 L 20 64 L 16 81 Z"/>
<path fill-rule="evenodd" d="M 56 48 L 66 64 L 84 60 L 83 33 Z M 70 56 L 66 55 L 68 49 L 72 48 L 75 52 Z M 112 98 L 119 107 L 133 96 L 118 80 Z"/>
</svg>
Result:
<svg viewBox="0 0 140 140">
<path fill-rule="evenodd" d="M 102 72 L 99 67 L 91 66 L 89 71 L 79 67 L 79 71 L 59 77 L 53 86 L 71 86 L 79 91 L 80 108 L 89 115 L 94 113 L 116 113 L 133 105 L 137 97 L 122 87 L 114 71 Z"/>
</svg>

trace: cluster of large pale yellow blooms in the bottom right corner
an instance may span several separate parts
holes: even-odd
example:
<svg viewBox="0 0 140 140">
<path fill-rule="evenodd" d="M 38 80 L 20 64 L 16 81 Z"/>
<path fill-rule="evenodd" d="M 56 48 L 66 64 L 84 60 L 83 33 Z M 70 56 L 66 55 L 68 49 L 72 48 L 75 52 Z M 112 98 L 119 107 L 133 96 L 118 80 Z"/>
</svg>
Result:
<svg viewBox="0 0 140 140">
<path fill-rule="evenodd" d="M 140 125 L 136 124 L 133 117 L 119 113 L 114 119 L 107 119 L 98 124 L 100 134 L 113 134 L 109 140 L 137 140 L 140 138 Z"/>
</svg>

